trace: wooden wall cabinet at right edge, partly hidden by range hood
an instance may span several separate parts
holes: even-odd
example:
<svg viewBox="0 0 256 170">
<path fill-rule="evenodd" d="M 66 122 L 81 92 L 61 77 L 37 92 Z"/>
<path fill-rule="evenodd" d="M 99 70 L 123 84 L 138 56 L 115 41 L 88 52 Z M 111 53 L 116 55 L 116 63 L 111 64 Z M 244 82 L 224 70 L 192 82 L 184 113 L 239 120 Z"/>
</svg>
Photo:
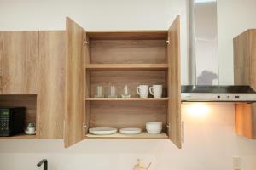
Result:
<svg viewBox="0 0 256 170">
<path fill-rule="evenodd" d="M 236 85 L 256 90 L 256 29 L 234 38 L 234 72 Z M 256 104 L 236 104 L 236 133 L 256 139 Z"/>
</svg>

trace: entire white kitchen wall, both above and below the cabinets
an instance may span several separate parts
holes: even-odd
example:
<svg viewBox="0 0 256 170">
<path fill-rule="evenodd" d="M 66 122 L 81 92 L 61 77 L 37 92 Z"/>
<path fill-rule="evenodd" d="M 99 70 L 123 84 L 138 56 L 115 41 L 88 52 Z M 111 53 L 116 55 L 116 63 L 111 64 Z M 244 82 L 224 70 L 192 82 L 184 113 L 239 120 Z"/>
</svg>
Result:
<svg viewBox="0 0 256 170">
<path fill-rule="evenodd" d="M 233 77 L 232 49 L 228 42 L 236 33 L 236 25 L 240 26 L 241 22 L 247 27 L 253 21 L 253 18 L 236 20 L 237 13 L 241 12 L 237 7 L 247 6 L 243 8 L 242 16 L 253 16 L 253 5 L 255 7 L 253 0 L 219 0 L 219 35 L 222 37 L 220 45 L 223 45 L 220 48 L 220 60 L 224 60 L 220 69 L 221 82 L 233 82 L 230 78 Z M 236 10 L 225 11 L 226 8 Z M 0 0 L 0 30 L 64 29 L 66 16 L 87 30 L 167 29 L 177 14 L 181 14 L 182 21 L 182 82 L 186 84 L 185 0 Z M 233 14 L 236 17 L 232 17 Z M 226 24 L 230 22 L 233 25 Z M 241 30 L 241 27 L 237 29 Z M 233 32 L 232 35 L 230 32 Z M 145 163 L 152 161 L 152 170 L 228 170 L 232 169 L 232 156 L 241 156 L 243 170 L 255 169 L 256 142 L 234 134 L 233 105 L 212 104 L 207 115 L 202 116 L 191 116 L 188 107 L 189 104 L 183 105 L 182 111 L 185 121 L 182 150 L 178 150 L 168 140 L 90 139 L 65 150 L 61 140 L 5 139 L 0 140 L 0 169 L 33 170 L 36 169 L 35 164 L 45 157 L 49 159 L 49 167 L 57 170 L 130 170 L 137 158 L 143 159 Z"/>
</svg>

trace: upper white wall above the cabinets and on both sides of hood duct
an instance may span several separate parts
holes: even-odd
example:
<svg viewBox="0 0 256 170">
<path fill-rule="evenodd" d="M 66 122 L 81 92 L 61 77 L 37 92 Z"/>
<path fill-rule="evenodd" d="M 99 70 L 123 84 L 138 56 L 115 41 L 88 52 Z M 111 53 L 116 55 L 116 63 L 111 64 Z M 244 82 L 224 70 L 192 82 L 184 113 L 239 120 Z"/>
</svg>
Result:
<svg viewBox="0 0 256 170">
<path fill-rule="evenodd" d="M 255 0 L 218 0 L 219 83 L 233 84 L 233 37 L 256 27 Z M 0 0 L 0 30 L 165 30 L 181 15 L 182 83 L 189 84 L 186 0 Z"/>
</svg>

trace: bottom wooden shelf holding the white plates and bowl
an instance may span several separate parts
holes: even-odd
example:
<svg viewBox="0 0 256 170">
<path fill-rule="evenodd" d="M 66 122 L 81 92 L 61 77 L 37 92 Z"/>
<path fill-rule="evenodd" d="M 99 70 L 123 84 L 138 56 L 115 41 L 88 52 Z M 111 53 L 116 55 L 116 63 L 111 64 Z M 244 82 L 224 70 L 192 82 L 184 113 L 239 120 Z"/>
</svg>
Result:
<svg viewBox="0 0 256 170">
<path fill-rule="evenodd" d="M 95 135 L 95 134 L 86 134 L 86 138 L 89 139 L 168 139 L 166 133 L 160 134 L 148 134 L 148 133 L 139 133 L 139 134 L 122 134 L 114 133 L 110 135 Z"/>
</svg>

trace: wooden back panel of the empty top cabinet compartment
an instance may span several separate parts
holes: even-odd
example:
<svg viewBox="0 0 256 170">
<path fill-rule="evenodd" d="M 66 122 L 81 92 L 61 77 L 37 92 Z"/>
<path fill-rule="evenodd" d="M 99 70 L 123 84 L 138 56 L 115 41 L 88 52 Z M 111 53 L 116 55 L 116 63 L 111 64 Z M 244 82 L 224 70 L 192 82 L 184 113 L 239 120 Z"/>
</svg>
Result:
<svg viewBox="0 0 256 170">
<path fill-rule="evenodd" d="M 166 62 L 166 39 L 91 40 L 92 64 L 160 64 Z"/>
</svg>

